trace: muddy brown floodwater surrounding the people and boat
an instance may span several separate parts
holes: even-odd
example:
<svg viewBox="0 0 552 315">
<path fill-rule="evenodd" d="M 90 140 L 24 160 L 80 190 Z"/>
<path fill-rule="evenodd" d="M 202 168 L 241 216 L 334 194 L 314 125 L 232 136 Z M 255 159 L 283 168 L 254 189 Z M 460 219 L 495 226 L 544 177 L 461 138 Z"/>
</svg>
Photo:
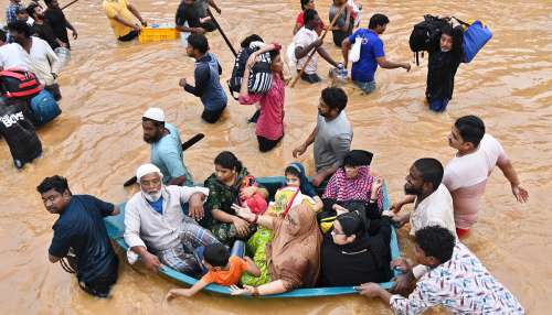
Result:
<svg viewBox="0 0 552 315">
<path fill-rule="evenodd" d="M 8 1 L 1 1 L 6 8 Z M 68 2 L 68 1 L 65 1 Z M 297 3 L 296 3 L 297 2 Z M 237 46 L 253 31 L 265 40 L 288 44 L 299 1 L 221 1 L 220 23 Z M 177 1 L 134 1 L 148 21 L 172 21 Z M 236 4 L 237 3 L 237 4 Z M 327 19 L 329 1 L 317 1 Z M 548 228 L 552 204 L 552 2 L 470 1 L 432 4 L 433 1 L 364 1 L 362 24 L 374 12 L 391 19 L 383 35 L 388 57 L 412 59 L 407 37 L 424 13 L 448 13 L 484 19 L 495 36 L 471 64 L 460 66 L 454 100 L 443 115 L 424 105 L 426 59 L 411 73 L 378 70 L 378 90 L 361 96 L 347 87 L 347 108 L 354 128 L 353 148 L 375 152 L 374 170 L 384 175 L 392 198 L 402 195 L 404 175 L 417 158 L 435 156 L 446 163 L 454 154 L 446 142 L 453 121 L 479 115 L 513 160 L 531 194 L 529 204 L 514 202 L 500 171 L 490 180 L 484 211 L 466 243 L 505 283 L 530 314 L 552 307 L 552 232 Z M 368 12 L 368 13 L 367 13 Z M 286 90 L 286 137 L 270 153 L 256 149 L 254 126 L 246 123 L 253 108 L 230 101 L 222 122 L 199 119 L 199 99 L 178 87 L 180 77 L 193 77 L 193 61 L 178 41 L 118 45 L 100 1 L 81 0 L 66 12 L 77 28 L 73 59 L 60 78 L 63 115 L 40 130 L 44 155 L 22 172 L 11 165 L 0 142 L 0 309 L 2 314 L 388 314 L 385 305 L 358 296 L 309 300 L 251 301 L 199 294 L 190 300 L 163 302 L 173 285 L 157 275 L 124 263 L 114 297 L 97 301 L 84 294 L 60 265 L 47 262 L 46 249 L 56 217 L 46 213 L 36 184 L 62 174 L 74 193 L 112 202 L 130 194 L 121 184 L 149 160 L 141 140 L 140 117 L 150 106 L 166 110 L 182 139 L 203 132 L 206 138 L 185 152 L 195 180 L 212 172 L 221 150 L 232 150 L 258 176 L 279 174 L 293 161 L 293 148 L 315 124 L 320 89 L 328 85 L 299 83 Z M 233 57 L 222 37 L 210 34 L 220 57 L 223 77 L 230 76 Z M 327 40 L 335 57 L 340 52 Z M 328 65 L 320 62 L 320 74 Z M 312 172 L 311 150 L 300 160 Z M 404 232 L 402 232 L 404 247 Z M 406 246 L 407 247 L 407 246 Z M 408 250 L 407 250 L 408 251 Z M 438 312 L 435 312 L 438 313 Z"/>
</svg>

